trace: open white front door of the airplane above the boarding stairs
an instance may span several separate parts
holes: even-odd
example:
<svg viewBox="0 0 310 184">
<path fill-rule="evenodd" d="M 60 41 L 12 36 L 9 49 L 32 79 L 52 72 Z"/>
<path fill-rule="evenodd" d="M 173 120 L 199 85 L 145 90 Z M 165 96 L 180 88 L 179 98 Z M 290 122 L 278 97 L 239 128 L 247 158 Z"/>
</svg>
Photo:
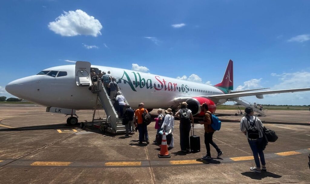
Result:
<svg viewBox="0 0 310 184">
<path fill-rule="evenodd" d="M 77 86 L 91 86 L 91 63 L 87 61 L 77 61 L 75 63 L 75 80 Z"/>
</svg>

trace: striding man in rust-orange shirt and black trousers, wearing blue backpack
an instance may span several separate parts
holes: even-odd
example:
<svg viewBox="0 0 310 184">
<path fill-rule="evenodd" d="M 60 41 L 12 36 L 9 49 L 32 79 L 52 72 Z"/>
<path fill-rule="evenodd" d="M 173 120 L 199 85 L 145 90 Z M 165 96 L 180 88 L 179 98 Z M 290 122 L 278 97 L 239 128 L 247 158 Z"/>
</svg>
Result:
<svg viewBox="0 0 310 184">
<path fill-rule="evenodd" d="M 205 128 L 205 144 L 207 149 L 206 156 L 201 157 L 202 159 L 210 160 L 211 159 L 211 153 L 210 153 L 210 144 L 216 149 L 217 151 L 217 158 L 219 158 L 221 155 L 223 155 L 223 152 L 221 149 L 213 142 L 213 134 L 215 130 L 212 128 L 211 124 L 212 122 L 212 114 L 213 112 L 209 111 L 208 105 L 206 103 L 202 103 L 200 105 L 201 111 L 205 112 L 205 115 L 203 117 L 203 121 L 200 121 L 200 124 L 203 124 Z M 216 118 L 215 118 L 216 119 Z"/>
</svg>

